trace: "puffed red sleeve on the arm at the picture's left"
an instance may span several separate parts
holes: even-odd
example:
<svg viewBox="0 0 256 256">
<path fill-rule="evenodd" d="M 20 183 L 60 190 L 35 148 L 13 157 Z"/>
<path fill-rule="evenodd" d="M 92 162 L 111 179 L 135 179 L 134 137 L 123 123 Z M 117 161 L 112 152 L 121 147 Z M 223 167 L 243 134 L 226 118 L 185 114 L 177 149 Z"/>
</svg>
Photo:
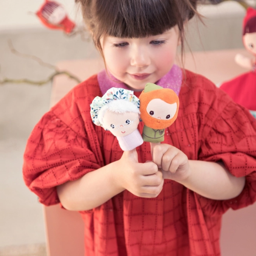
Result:
<svg viewBox="0 0 256 256">
<path fill-rule="evenodd" d="M 23 178 L 39 201 L 49 206 L 59 203 L 56 186 L 100 167 L 88 136 L 76 133 L 53 112 L 48 112 L 28 139 Z"/>
</svg>

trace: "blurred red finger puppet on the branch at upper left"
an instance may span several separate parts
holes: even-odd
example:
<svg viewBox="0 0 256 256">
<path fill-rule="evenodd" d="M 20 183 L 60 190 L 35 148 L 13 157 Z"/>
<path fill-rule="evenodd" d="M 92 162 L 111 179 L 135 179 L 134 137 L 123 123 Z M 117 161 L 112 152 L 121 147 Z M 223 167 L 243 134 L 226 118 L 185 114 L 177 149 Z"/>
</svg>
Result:
<svg viewBox="0 0 256 256">
<path fill-rule="evenodd" d="M 45 3 L 36 12 L 40 21 L 50 29 L 61 29 L 67 34 L 75 28 L 74 22 L 68 17 L 66 10 L 57 2 L 45 0 Z"/>
</svg>

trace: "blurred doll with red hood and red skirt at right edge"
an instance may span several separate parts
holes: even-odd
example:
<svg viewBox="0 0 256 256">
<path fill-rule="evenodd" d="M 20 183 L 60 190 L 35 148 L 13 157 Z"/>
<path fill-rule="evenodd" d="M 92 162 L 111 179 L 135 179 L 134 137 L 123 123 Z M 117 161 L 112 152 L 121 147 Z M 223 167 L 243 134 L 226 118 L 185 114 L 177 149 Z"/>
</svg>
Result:
<svg viewBox="0 0 256 256">
<path fill-rule="evenodd" d="M 253 58 L 237 54 L 235 61 L 250 71 L 223 83 L 220 88 L 256 117 L 256 10 L 253 8 L 248 8 L 244 17 L 242 40 Z"/>
</svg>

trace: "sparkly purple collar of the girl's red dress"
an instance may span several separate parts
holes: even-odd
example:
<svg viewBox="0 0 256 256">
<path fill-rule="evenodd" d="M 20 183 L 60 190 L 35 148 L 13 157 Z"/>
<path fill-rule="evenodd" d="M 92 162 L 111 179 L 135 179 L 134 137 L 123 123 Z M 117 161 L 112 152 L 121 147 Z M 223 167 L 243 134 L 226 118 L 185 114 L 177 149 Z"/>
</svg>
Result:
<svg viewBox="0 0 256 256">
<path fill-rule="evenodd" d="M 131 90 L 125 85 L 125 83 L 114 81 L 116 80 L 116 78 L 114 78 L 114 76 L 112 76 L 111 74 L 109 75 L 107 74 L 106 69 L 103 69 L 97 75 L 102 95 L 105 94 L 107 90 L 112 87 Z M 162 86 L 163 88 L 170 88 L 174 90 L 177 95 L 179 95 L 180 87 L 182 85 L 182 70 L 177 65 L 173 65 L 171 70 L 161 79 L 159 79 L 156 84 Z"/>
</svg>

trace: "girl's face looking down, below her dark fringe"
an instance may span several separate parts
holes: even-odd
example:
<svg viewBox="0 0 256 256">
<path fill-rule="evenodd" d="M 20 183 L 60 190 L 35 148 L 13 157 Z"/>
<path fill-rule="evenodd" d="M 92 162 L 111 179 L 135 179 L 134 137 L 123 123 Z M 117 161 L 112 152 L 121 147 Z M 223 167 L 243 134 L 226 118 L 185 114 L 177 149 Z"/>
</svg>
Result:
<svg viewBox="0 0 256 256">
<path fill-rule="evenodd" d="M 167 74 L 180 44 L 178 26 L 157 36 L 118 38 L 104 36 L 101 46 L 109 72 L 132 90 L 143 90 Z"/>
</svg>

